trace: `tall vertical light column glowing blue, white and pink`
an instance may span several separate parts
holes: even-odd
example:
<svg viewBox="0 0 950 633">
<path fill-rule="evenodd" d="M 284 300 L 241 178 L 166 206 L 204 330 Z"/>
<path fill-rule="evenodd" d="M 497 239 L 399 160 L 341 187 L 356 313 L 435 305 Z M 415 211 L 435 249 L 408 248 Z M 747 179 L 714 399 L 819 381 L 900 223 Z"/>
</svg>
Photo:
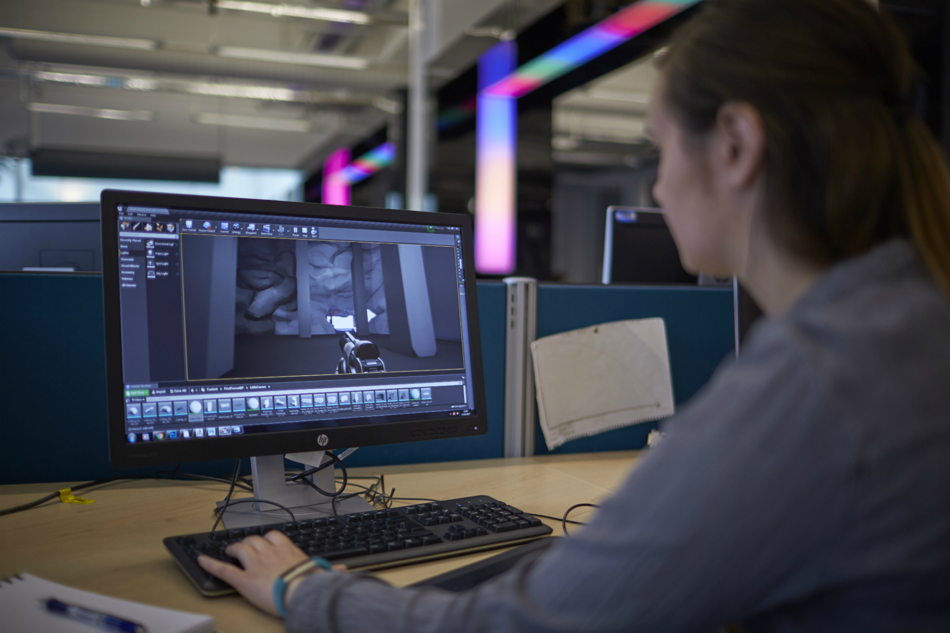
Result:
<svg viewBox="0 0 950 633">
<path fill-rule="evenodd" d="M 475 131 L 475 269 L 485 274 L 515 270 L 515 178 L 518 100 L 488 94 L 518 64 L 514 42 L 499 42 L 478 62 Z"/>
</svg>

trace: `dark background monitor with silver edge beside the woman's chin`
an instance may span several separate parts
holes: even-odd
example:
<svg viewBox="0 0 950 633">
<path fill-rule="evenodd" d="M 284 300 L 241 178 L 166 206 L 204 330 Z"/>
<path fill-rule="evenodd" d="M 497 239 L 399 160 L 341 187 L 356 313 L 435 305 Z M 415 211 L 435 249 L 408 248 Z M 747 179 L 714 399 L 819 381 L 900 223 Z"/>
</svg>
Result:
<svg viewBox="0 0 950 633">
<path fill-rule="evenodd" d="M 695 284 L 683 269 L 661 209 L 609 207 L 603 242 L 604 284 Z"/>
</svg>

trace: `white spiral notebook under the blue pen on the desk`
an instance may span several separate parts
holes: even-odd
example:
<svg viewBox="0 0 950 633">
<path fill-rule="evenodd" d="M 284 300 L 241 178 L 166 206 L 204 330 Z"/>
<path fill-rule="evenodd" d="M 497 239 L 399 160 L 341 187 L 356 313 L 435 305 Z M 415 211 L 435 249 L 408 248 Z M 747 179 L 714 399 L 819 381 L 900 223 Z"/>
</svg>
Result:
<svg viewBox="0 0 950 633">
<path fill-rule="evenodd" d="M 102 633 L 108 630 L 95 624 L 86 624 L 64 615 L 50 613 L 44 607 L 50 598 L 66 605 L 81 606 L 142 624 L 145 633 L 211 633 L 215 630 L 215 619 L 209 615 L 109 598 L 71 586 L 51 583 L 28 573 L 0 580 L 0 613 L 3 614 L 3 624 L 0 624 L 0 628 L 17 633 Z"/>
</svg>

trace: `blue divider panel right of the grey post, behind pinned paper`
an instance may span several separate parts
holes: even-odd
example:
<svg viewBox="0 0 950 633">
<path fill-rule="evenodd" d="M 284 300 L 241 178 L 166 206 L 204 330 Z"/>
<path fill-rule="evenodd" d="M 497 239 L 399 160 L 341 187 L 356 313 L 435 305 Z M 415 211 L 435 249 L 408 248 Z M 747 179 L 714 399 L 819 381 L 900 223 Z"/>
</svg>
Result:
<svg viewBox="0 0 950 633">
<path fill-rule="evenodd" d="M 538 338 L 626 319 L 661 317 L 666 324 L 676 403 L 693 397 L 734 352 L 732 290 L 693 286 L 538 286 Z M 535 455 L 643 448 L 656 422 L 644 422 L 548 451 L 535 421 Z"/>
</svg>

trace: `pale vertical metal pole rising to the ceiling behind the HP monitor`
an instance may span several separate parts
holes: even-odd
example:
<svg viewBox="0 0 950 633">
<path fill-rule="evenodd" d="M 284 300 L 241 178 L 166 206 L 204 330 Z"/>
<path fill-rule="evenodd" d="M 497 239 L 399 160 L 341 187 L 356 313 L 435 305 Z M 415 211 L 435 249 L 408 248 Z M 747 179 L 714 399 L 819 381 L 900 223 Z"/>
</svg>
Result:
<svg viewBox="0 0 950 633">
<path fill-rule="evenodd" d="M 426 0 L 409 0 L 409 130 L 407 209 L 423 211 L 428 192 L 428 91 Z"/>
</svg>

